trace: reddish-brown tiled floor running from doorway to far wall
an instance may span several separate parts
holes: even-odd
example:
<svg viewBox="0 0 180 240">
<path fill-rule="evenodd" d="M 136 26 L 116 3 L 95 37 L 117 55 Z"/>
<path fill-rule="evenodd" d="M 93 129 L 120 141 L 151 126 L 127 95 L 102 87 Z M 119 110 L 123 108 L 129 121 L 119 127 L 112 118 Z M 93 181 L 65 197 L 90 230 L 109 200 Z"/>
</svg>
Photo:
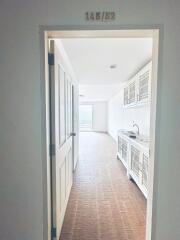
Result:
<svg viewBox="0 0 180 240">
<path fill-rule="evenodd" d="M 101 133 L 80 134 L 61 240 L 145 240 L 146 201 L 116 159 L 116 145 Z"/>
</svg>

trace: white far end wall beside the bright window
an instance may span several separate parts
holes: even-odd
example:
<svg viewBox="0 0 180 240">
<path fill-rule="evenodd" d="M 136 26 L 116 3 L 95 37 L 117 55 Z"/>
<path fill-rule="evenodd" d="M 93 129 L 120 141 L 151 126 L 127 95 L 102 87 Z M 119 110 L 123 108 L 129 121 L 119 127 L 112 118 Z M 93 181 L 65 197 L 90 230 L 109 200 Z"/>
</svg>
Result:
<svg viewBox="0 0 180 240">
<path fill-rule="evenodd" d="M 107 102 L 85 102 L 93 106 L 92 131 L 107 132 Z"/>
</svg>

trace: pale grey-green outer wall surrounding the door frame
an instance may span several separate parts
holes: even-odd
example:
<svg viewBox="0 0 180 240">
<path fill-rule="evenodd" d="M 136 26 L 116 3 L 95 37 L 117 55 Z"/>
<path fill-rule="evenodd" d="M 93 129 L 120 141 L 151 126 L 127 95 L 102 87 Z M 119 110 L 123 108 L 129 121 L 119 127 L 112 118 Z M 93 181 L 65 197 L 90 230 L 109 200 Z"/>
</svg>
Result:
<svg viewBox="0 0 180 240">
<path fill-rule="evenodd" d="M 0 1 L 0 239 L 43 239 L 39 26 L 88 28 L 84 13 L 106 9 L 116 11 L 116 21 L 95 28 L 161 24 L 163 29 L 152 239 L 180 239 L 179 0 Z"/>
</svg>

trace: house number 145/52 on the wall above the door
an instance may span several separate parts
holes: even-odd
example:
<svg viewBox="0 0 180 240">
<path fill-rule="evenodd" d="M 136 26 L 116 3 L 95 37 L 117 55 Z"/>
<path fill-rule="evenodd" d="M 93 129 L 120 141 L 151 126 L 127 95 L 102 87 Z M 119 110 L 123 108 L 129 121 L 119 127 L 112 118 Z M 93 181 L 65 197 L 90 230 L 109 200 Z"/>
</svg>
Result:
<svg viewBox="0 0 180 240">
<path fill-rule="evenodd" d="M 110 22 L 116 19 L 116 13 L 112 11 L 86 12 L 85 19 L 88 22 Z"/>
</svg>

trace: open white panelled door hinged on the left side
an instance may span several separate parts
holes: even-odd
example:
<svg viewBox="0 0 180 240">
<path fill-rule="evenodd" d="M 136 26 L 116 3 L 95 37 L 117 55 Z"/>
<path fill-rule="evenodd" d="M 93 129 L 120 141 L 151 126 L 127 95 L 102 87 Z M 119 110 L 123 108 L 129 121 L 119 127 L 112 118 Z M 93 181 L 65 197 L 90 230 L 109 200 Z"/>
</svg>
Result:
<svg viewBox="0 0 180 240">
<path fill-rule="evenodd" d="M 52 239 L 59 240 L 72 186 L 72 82 L 54 40 L 49 51 L 51 101 Z"/>
</svg>

